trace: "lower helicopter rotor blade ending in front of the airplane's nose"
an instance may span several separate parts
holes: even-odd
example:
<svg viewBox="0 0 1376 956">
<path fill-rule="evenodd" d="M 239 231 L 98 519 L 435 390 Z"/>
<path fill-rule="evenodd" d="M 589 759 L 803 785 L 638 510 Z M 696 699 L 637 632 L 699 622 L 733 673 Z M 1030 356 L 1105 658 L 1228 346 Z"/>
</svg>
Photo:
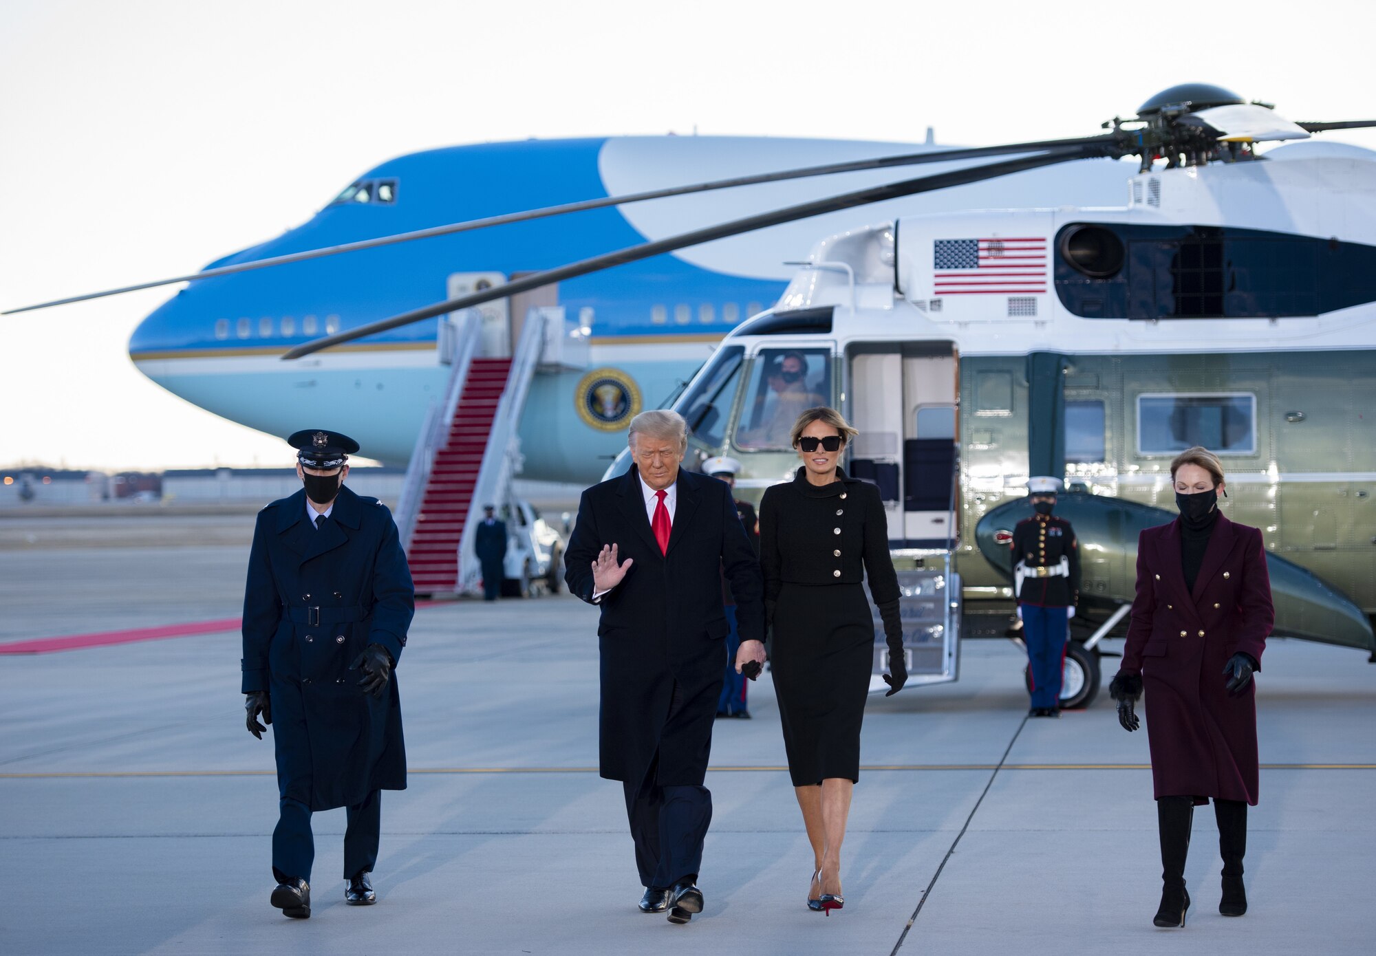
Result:
<svg viewBox="0 0 1376 956">
<path fill-rule="evenodd" d="M 856 206 L 882 202 L 885 199 L 896 199 L 905 195 L 915 195 L 918 193 L 930 193 L 933 190 L 943 190 L 952 186 L 963 186 L 967 183 L 982 182 L 985 179 L 995 179 L 998 176 L 1007 176 L 1025 169 L 1036 169 L 1060 162 L 1069 162 L 1072 160 L 1109 154 L 1110 151 L 1108 143 L 1049 150 L 1039 155 L 1022 157 L 1018 160 L 1003 160 L 1000 162 L 991 162 L 982 166 L 969 166 L 965 169 L 937 173 L 934 176 L 922 176 L 900 183 L 874 186 L 854 193 L 845 193 L 826 199 L 815 199 L 812 202 L 804 202 L 795 206 L 776 209 L 773 212 L 747 216 L 744 219 L 709 226 L 691 232 L 666 237 L 654 242 L 644 242 L 641 245 L 616 249 L 614 252 L 583 259 L 577 263 L 568 263 L 556 268 L 544 270 L 541 272 L 533 272 L 513 282 L 484 289 L 483 292 L 475 292 L 458 298 L 450 298 L 433 305 L 425 305 L 409 312 L 402 312 L 400 315 L 394 315 L 388 319 L 369 322 L 367 325 L 362 325 L 356 329 L 337 332 L 333 336 L 325 336 L 322 338 L 297 345 L 289 349 L 282 358 L 285 360 L 299 359 L 304 355 L 311 355 L 312 352 L 330 348 L 332 345 L 341 345 L 378 332 L 387 332 L 388 329 L 396 329 L 422 319 L 431 319 L 446 312 L 457 312 L 460 309 L 472 308 L 495 298 L 506 298 L 508 296 L 515 296 L 528 289 L 538 289 L 539 286 L 549 285 L 552 282 L 563 282 L 564 279 L 599 272 L 601 270 L 612 268 L 614 265 L 625 265 L 626 263 L 634 263 L 641 259 L 649 259 L 651 256 L 685 249 L 688 246 L 711 242 L 714 239 L 724 239 L 727 237 L 753 232 L 755 230 L 779 226 L 782 223 L 791 223 L 799 219 L 809 219 L 812 216 L 820 216 L 842 209 L 853 209 Z"/>
</svg>

